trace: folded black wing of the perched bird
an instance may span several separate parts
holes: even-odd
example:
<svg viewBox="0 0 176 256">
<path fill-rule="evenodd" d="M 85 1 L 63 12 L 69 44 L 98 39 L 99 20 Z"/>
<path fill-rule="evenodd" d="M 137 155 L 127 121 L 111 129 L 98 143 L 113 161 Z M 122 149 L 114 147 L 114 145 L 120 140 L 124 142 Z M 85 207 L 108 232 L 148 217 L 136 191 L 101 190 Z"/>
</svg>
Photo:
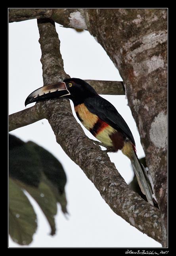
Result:
<svg viewBox="0 0 176 256">
<path fill-rule="evenodd" d="M 135 145 L 130 128 L 117 109 L 115 109 L 109 101 L 98 95 L 96 97 L 85 99 L 84 104 L 91 113 L 96 114 L 101 120 L 112 126 L 115 130 L 120 130 Z"/>
</svg>

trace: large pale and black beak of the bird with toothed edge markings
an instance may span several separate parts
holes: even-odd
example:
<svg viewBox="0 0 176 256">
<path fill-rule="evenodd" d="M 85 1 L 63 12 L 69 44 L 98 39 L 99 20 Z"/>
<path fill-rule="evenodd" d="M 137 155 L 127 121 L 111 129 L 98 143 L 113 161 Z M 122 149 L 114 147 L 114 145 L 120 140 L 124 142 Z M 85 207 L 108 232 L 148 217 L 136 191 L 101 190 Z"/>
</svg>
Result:
<svg viewBox="0 0 176 256">
<path fill-rule="evenodd" d="M 70 95 L 70 93 L 64 82 L 52 83 L 33 91 L 25 100 L 25 107 L 33 102 L 60 98 L 66 95 Z"/>
</svg>

